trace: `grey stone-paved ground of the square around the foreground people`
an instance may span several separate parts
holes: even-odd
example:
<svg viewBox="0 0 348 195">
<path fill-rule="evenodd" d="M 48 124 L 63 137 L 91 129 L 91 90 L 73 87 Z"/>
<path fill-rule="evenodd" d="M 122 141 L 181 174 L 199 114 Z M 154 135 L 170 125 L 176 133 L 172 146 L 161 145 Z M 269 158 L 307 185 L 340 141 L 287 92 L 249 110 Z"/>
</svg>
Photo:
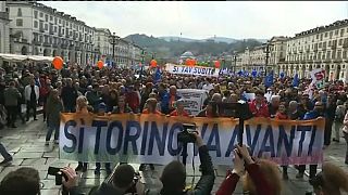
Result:
<svg viewBox="0 0 348 195">
<path fill-rule="evenodd" d="M 17 122 L 17 126 L 18 128 L 16 129 L 0 130 L 1 142 L 14 157 L 12 165 L 8 167 L 0 167 L 0 180 L 2 180 L 2 178 L 8 172 L 10 172 L 11 170 L 15 170 L 18 167 L 34 167 L 39 170 L 41 181 L 45 184 L 41 194 L 59 194 L 59 186 L 54 185 L 54 178 L 47 174 L 48 167 L 64 167 L 69 164 L 71 167 L 76 167 L 77 162 L 59 159 L 58 145 L 50 143 L 49 146 L 45 146 L 45 135 L 47 130 L 41 117 L 39 117 L 38 121 L 30 120 L 26 125 L 20 125 L 20 122 Z M 324 151 L 325 161 L 336 164 L 348 171 L 348 166 L 344 164 L 345 152 L 346 143 L 344 142 L 344 139 L 341 139 L 340 143 L 333 143 L 328 148 Z M 0 160 L 2 160 L 2 157 L 0 157 Z M 136 169 L 138 169 L 139 167 L 139 165 L 133 166 Z M 213 193 L 219 188 L 220 183 L 223 181 L 226 169 L 228 167 L 216 166 L 215 168 L 217 177 L 215 180 Z M 104 171 L 101 172 L 100 177 L 96 177 L 94 174 L 94 169 L 95 165 L 90 164 L 88 171 L 80 176 L 79 186 L 82 192 L 88 192 L 91 186 L 99 185 L 104 180 Z M 157 166 L 156 171 L 145 171 L 141 173 L 142 180 L 145 180 L 148 186 L 159 188 L 161 187 L 158 178 L 162 169 L 163 166 Z M 288 171 L 289 180 L 283 182 L 284 195 L 301 195 L 304 194 L 307 190 L 311 190 L 308 184 L 307 177 L 301 180 L 296 179 L 295 176 L 297 172 L 293 167 L 290 167 Z M 196 172 L 194 172 L 192 168 L 187 166 L 187 183 L 191 183 L 192 179 L 195 179 L 194 183 L 196 183 L 200 174 L 200 172 L 198 171 L 198 167 L 196 168 Z M 240 184 L 238 184 L 237 193 L 235 194 L 243 194 Z"/>
</svg>

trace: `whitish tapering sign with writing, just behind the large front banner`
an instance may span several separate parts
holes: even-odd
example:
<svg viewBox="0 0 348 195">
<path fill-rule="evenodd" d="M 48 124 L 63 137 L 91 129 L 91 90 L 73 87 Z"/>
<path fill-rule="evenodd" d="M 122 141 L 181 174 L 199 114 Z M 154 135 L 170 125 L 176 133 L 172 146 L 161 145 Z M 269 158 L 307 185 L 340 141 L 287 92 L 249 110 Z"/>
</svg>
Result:
<svg viewBox="0 0 348 195">
<path fill-rule="evenodd" d="M 189 115 L 196 116 L 202 109 L 203 102 L 207 99 L 207 91 L 198 89 L 178 89 L 177 95 L 182 98 L 185 110 Z"/>
</svg>

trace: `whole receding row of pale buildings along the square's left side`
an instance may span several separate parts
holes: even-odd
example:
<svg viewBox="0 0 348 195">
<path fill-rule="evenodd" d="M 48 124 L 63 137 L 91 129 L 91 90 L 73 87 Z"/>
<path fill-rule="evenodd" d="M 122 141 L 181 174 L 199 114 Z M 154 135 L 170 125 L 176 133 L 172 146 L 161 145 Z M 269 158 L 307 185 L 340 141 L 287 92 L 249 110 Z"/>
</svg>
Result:
<svg viewBox="0 0 348 195">
<path fill-rule="evenodd" d="M 109 29 L 87 26 L 72 15 L 35 1 L 7 1 L 5 6 L 11 20 L 10 53 L 62 56 L 70 64 L 80 65 L 112 60 Z M 128 65 L 135 62 L 140 55 L 133 49 L 135 46 L 117 40 L 115 63 Z"/>
</svg>

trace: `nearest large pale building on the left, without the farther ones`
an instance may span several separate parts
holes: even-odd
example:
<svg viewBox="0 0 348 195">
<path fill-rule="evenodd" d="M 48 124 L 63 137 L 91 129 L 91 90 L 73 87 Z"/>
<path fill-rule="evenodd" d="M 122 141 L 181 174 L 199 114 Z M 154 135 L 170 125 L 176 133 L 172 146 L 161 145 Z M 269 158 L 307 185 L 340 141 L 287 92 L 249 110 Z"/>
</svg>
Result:
<svg viewBox="0 0 348 195">
<path fill-rule="evenodd" d="M 95 29 L 76 17 L 38 2 L 8 1 L 11 53 L 62 56 L 71 64 L 92 64 Z"/>
</svg>

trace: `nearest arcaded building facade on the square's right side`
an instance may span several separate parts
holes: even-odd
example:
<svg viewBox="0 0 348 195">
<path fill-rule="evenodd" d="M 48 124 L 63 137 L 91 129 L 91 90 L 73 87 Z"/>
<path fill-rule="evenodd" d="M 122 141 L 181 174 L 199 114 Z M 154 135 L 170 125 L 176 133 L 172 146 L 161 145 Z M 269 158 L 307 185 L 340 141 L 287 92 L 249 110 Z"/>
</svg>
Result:
<svg viewBox="0 0 348 195">
<path fill-rule="evenodd" d="M 288 76 L 310 77 L 323 68 L 328 80 L 348 80 L 348 20 L 297 34 L 287 42 L 286 61 L 281 70 Z"/>
</svg>

